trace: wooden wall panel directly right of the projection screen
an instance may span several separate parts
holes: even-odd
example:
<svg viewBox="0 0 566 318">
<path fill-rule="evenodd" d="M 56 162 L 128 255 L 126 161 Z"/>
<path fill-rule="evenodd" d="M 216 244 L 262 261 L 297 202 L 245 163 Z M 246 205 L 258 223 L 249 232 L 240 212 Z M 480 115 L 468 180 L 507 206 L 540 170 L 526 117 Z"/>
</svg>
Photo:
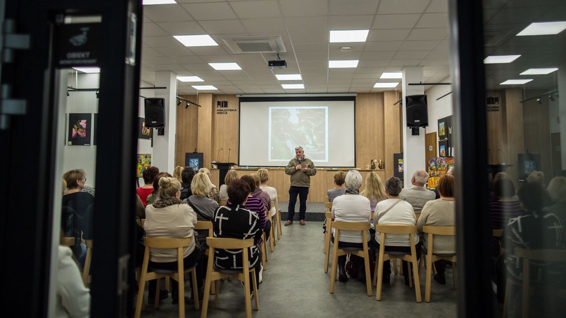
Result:
<svg viewBox="0 0 566 318">
<path fill-rule="evenodd" d="M 384 158 L 383 93 L 359 93 L 355 99 L 356 167 Z"/>
</svg>

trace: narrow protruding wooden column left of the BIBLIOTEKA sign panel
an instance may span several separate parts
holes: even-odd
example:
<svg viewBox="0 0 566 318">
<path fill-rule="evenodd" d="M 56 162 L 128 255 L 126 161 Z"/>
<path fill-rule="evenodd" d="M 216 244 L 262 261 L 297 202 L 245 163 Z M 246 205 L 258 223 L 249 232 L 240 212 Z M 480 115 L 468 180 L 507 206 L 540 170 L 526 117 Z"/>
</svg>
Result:
<svg viewBox="0 0 566 318">
<path fill-rule="evenodd" d="M 211 161 L 213 160 L 212 154 L 212 128 L 213 128 L 213 121 L 212 121 L 212 112 L 216 108 L 216 105 L 213 105 L 212 102 L 214 100 L 214 96 L 211 93 L 202 93 L 199 94 L 199 101 L 198 103 L 202 106 L 199 107 L 199 124 L 198 124 L 198 143 L 196 147 L 196 151 L 204 153 L 204 164 L 203 167 L 211 168 L 212 164 Z"/>
</svg>

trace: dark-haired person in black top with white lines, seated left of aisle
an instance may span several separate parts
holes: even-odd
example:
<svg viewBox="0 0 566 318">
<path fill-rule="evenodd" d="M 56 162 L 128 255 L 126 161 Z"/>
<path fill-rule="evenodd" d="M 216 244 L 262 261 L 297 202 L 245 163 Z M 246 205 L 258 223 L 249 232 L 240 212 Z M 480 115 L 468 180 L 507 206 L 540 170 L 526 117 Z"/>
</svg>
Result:
<svg viewBox="0 0 566 318">
<path fill-rule="evenodd" d="M 250 197 L 250 186 L 244 180 L 231 181 L 226 191 L 228 192 L 228 203 L 225 206 L 218 207 L 214 213 L 212 222 L 214 237 L 254 239 L 255 245 L 248 248 L 248 265 L 250 268 L 255 268 L 256 282 L 259 284 L 262 269 L 259 245 L 263 231 L 258 214 L 243 206 L 247 200 L 254 197 Z M 214 262 L 218 268 L 242 269 L 242 251 L 233 252 L 226 249 L 215 249 Z M 253 281 L 250 279 L 250 282 Z M 251 284 L 250 287 L 253 288 Z"/>
</svg>

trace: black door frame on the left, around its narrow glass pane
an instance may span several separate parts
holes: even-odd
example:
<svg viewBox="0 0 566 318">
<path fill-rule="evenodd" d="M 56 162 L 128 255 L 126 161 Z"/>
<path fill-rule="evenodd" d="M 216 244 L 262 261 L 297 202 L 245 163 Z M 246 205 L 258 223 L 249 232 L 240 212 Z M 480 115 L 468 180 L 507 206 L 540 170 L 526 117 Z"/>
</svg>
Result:
<svg viewBox="0 0 566 318">
<path fill-rule="evenodd" d="M 53 184 L 61 178 L 55 176 L 59 123 L 54 104 L 56 70 L 52 62 L 58 14 L 102 16 L 104 48 L 100 50 L 98 126 L 112 129 L 96 132 L 98 186 L 93 221 L 96 243 L 91 271 L 91 316 L 131 316 L 134 294 L 128 285 L 134 283 L 129 256 L 135 245 L 141 1 L 6 2 L 5 18 L 15 22 L 15 32 L 29 35 L 31 45 L 29 49 L 16 50 L 14 62 L 2 64 L 2 84 L 10 85 L 11 98 L 25 99 L 27 109 L 23 115 L 9 116 L 9 128 L 0 130 L 0 149 L 5 151 L 0 156 L 0 167 L 5 171 L 0 183 L 0 270 L 5 273 L 1 296 L 5 303 L 18 308 L 18 316 L 48 315 L 52 206 L 54 192 L 58 191 Z M 134 20 L 136 24 L 128 24 Z M 128 27 L 130 40 L 135 39 L 129 50 Z M 131 48 L 135 48 L 135 58 L 126 63 Z"/>
</svg>

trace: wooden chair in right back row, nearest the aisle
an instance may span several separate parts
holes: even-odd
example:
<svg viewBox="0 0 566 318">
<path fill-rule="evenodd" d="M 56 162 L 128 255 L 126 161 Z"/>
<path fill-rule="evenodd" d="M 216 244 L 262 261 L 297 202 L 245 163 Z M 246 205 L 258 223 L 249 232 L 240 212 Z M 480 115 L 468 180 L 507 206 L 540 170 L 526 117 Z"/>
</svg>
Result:
<svg viewBox="0 0 566 318">
<path fill-rule="evenodd" d="M 334 283 L 336 280 L 336 270 L 338 267 L 338 256 L 342 255 L 356 255 L 363 257 L 364 264 L 366 265 L 366 288 L 367 295 L 371 296 L 371 275 L 370 275 L 370 252 L 367 249 L 367 231 L 370 230 L 370 223 L 366 222 L 332 222 L 332 227 L 334 228 L 334 249 L 332 252 L 332 273 L 330 275 L 330 293 L 334 293 Z M 363 248 L 339 248 L 338 241 L 340 241 L 340 231 L 361 231 L 362 232 L 362 242 Z M 327 254 L 328 255 L 328 254 Z"/>
</svg>

